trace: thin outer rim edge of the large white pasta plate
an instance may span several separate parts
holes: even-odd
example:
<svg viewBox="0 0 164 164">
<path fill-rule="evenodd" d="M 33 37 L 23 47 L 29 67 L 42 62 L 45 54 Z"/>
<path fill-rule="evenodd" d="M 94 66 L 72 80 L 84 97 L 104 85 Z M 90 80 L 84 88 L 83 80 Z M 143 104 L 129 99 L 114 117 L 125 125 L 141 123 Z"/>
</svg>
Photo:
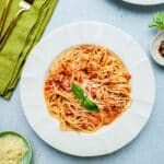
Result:
<svg viewBox="0 0 164 164">
<path fill-rule="evenodd" d="M 127 33 L 125 33 L 124 31 L 121 31 L 120 28 L 118 28 L 118 27 L 116 27 L 116 26 L 113 26 L 113 25 L 109 25 L 109 24 L 107 24 L 107 23 L 102 23 L 102 22 L 95 22 L 95 21 L 82 21 L 82 22 L 77 22 L 77 23 L 71 23 L 71 24 L 68 24 L 68 25 L 63 25 L 63 26 L 61 26 L 61 27 L 58 27 L 58 28 L 56 28 L 56 30 L 54 30 L 49 35 L 47 35 L 38 45 L 40 45 L 40 44 L 44 44 L 46 40 L 48 40 L 50 37 L 51 37 L 51 35 L 54 34 L 54 33 L 57 33 L 58 31 L 60 31 L 61 28 L 65 28 L 65 27 L 71 27 L 71 26 L 74 26 L 74 25 L 81 25 L 81 24 L 95 24 L 95 25 L 104 25 L 104 26 L 110 26 L 110 27 L 113 27 L 113 28 L 116 28 L 117 31 L 119 31 L 120 33 L 122 33 L 122 34 L 125 34 L 125 35 L 127 35 L 128 37 L 130 37 L 131 39 L 132 39 L 132 37 L 130 36 L 130 35 L 128 35 Z M 133 39 L 132 39 L 133 40 Z M 136 43 L 136 42 L 134 42 Z M 137 44 L 137 43 L 136 43 Z M 37 46 L 38 46 L 37 45 Z M 35 48 L 37 48 L 37 46 L 35 47 Z M 140 49 L 142 49 L 142 47 L 138 44 L 138 46 L 140 47 Z M 32 50 L 32 52 L 31 54 L 33 54 L 33 51 L 35 50 L 35 48 Z M 148 60 L 148 57 L 145 56 L 145 58 L 147 58 L 147 61 L 149 62 L 149 65 L 150 65 L 150 61 Z M 31 59 L 31 58 L 30 58 Z M 28 62 L 28 60 L 30 59 L 27 59 L 27 61 L 26 62 Z M 26 65 L 25 65 L 25 67 L 24 67 L 24 70 L 25 70 L 25 68 L 26 68 Z M 150 65 L 150 68 L 151 68 L 151 65 Z M 24 71 L 23 70 L 23 74 L 24 74 Z M 152 71 L 152 68 L 151 68 L 151 71 Z M 154 105 L 154 95 L 155 95 L 155 81 L 154 81 L 154 74 L 153 74 L 153 71 L 151 72 L 152 73 L 152 86 L 153 86 L 153 91 L 152 91 L 152 106 L 151 106 L 151 109 L 150 109 L 150 113 L 149 113 L 149 117 L 150 117 L 150 115 L 151 115 L 151 113 L 152 113 L 152 109 L 153 109 L 153 105 Z M 20 87 L 21 87 L 21 90 L 20 90 L 20 93 L 21 93 L 21 102 L 22 102 L 22 106 L 23 106 L 23 110 L 24 110 L 24 114 L 25 114 L 25 116 L 26 116 L 26 118 L 27 118 L 27 120 L 28 120 L 28 122 L 30 122 L 30 125 L 31 125 L 31 127 L 33 128 L 33 130 L 45 141 L 45 139 L 42 137 L 42 134 L 39 133 L 39 132 L 37 132 L 36 130 L 35 130 L 35 127 L 33 127 L 33 125 L 32 125 L 32 122 L 31 122 L 31 120 L 30 120 L 30 117 L 27 116 L 27 114 L 26 114 L 26 110 L 25 110 L 25 102 L 24 102 L 24 99 L 23 99 L 23 80 L 24 80 L 24 75 L 22 75 L 22 78 L 21 78 L 21 84 L 20 84 Z M 147 121 L 148 121 L 148 119 L 149 119 L 149 117 L 147 118 Z M 119 145 L 116 150 L 119 150 L 120 148 L 122 148 L 122 147 L 125 147 L 126 144 L 128 144 L 129 142 L 131 142 L 139 133 L 140 133 L 140 131 L 143 129 L 143 127 L 145 126 L 145 124 L 147 124 L 147 121 L 142 125 L 142 127 L 140 127 L 140 130 L 138 131 L 138 133 L 134 136 L 134 137 L 132 137 L 130 140 L 128 140 L 125 144 L 121 144 L 121 145 Z M 48 141 L 45 141 L 45 142 L 47 142 L 49 145 L 51 145 L 51 143 L 49 143 Z M 85 154 L 85 153 L 80 153 L 80 152 L 69 152 L 69 151 L 66 151 L 66 150 L 62 150 L 62 149 L 60 149 L 60 148 L 57 148 L 57 147 L 55 147 L 55 145 L 51 145 L 52 148 L 55 148 L 55 149 L 57 149 L 57 150 L 59 150 L 59 151 L 61 151 L 61 152 L 65 152 L 65 153 L 67 153 L 67 154 L 70 154 L 70 155 L 75 155 L 75 156 L 99 156 L 99 155 L 105 155 L 105 154 L 108 154 L 108 153 L 113 153 L 113 152 L 115 152 L 116 150 L 113 150 L 113 151 L 104 151 L 104 152 L 98 152 L 98 153 L 92 153 L 91 152 L 91 154 Z"/>
</svg>

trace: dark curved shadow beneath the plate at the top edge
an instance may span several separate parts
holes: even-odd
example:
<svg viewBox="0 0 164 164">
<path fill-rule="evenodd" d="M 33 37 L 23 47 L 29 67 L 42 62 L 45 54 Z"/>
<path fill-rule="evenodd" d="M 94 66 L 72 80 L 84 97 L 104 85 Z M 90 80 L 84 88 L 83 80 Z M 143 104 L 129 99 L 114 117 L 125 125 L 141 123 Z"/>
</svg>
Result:
<svg viewBox="0 0 164 164">
<path fill-rule="evenodd" d="M 164 11 L 164 4 L 157 5 L 137 5 L 124 2 L 122 0 L 104 0 L 114 5 L 120 5 L 130 11 L 140 12 L 140 13 L 152 13 L 156 11 Z"/>
</svg>

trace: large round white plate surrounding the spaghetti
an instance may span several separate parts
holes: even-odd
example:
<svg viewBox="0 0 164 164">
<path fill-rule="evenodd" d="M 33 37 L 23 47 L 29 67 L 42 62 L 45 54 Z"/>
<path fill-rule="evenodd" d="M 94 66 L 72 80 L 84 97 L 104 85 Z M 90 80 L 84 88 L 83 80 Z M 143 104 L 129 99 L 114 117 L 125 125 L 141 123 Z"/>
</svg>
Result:
<svg viewBox="0 0 164 164">
<path fill-rule="evenodd" d="M 115 51 L 132 74 L 132 98 L 127 109 L 112 125 L 96 133 L 61 131 L 47 112 L 44 80 L 52 60 L 63 50 L 80 44 L 104 45 Z M 34 131 L 48 144 L 78 156 L 112 153 L 137 137 L 148 121 L 154 104 L 154 77 L 147 55 L 121 30 L 96 22 L 81 22 L 59 27 L 31 52 L 21 79 L 21 99 Z"/>
</svg>

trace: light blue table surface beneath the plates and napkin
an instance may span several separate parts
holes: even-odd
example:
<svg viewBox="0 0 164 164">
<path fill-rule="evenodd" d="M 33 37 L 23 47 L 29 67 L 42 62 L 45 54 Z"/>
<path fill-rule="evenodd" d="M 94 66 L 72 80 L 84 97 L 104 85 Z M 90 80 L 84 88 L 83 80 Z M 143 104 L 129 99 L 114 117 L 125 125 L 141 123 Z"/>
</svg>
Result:
<svg viewBox="0 0 164 164">
<path fill-rule="evenodd" d="M 101 157 L 82 159 L 58 152 L 30 127 L 21 106 L 20 86 L 11 101 L 0 98 L 0 131 L 15 130 L 26 136 L 33 145 L 35 164 L 164 164 L 164 68 L 155 65 L 149 52 L 156 31 L 149 28 L 148 24 L 156 11 L 164 11 L 164 5 L 137 7 L 121 0 L 59 0 L 45 32 L 46 35 L 70 22 L 101 21 L 122 28 L 142 45 L 154 70 L 156 99 L 149 122 L 134 141 Z"/>
</svg>

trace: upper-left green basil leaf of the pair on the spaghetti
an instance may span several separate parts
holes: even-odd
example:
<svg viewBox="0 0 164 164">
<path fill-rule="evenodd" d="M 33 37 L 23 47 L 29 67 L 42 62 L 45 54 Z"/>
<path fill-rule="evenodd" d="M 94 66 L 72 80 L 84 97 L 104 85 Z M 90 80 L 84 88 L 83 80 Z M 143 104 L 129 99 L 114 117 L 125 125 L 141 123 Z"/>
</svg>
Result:
<svg viewBox="0 0 164 164">
<path fill-rule="evenodd" d="M 72 82 L 72 92 L 73 94 L 80 99 L 83 101 L 84 99 L 84 91 L 81 86 L 79 86 L 78 84 L 75 84 L 74 82 Z"/>
</svg>

